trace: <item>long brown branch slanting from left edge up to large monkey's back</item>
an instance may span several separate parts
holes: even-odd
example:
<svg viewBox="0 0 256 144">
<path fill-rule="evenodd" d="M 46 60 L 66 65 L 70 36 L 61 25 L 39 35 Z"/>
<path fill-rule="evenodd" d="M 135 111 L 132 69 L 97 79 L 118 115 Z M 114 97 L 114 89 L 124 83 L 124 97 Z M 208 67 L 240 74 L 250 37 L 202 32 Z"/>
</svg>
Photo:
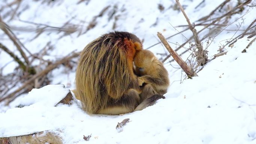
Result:
<svg viewBox="0 0 256 144">
<path fill-rule="evenodd" d="M 40 73 L 35 74 L 33 77 L 31 77 L 30 79 L 28 79 L 20 88 L 16 89 L 14 92 L 12 92 L 11 94 L 7 95 L 6 97 L 0 99 L 0 101 L 3 101 L 4 99 L 7 98 L 12 98 L 13 96 L 15 96 L 18 92 L 20 92 L 22 89 L 26 88 L 28 85 L 30 85 L 35 79 L 45 76 L 46 74 L 48 74 L 51 70 L 53 70 L 54 68 L 56 68 L 58 65 L 63 64 L 67 61 L 69 61 L 72 58 L 75 58 L 77 56 L 79 56 L 80 52 L 77 53 L 73 53 L 73 55 L 71 56 L 67 56 L 64 57 L 63 59 L 61 59 L 60 61 L 55 62 L 54 64 L 49 65 L 45 70 L 41 71 Z"/>
</svg>

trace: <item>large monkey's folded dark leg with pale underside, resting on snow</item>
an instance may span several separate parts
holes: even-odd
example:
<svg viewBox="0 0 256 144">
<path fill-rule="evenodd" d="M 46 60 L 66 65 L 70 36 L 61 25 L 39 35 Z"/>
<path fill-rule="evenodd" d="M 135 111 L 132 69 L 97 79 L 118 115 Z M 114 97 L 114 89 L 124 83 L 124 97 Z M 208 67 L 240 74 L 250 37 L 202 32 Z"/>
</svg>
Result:
<svg viewBox="0 0 256 144">
<path fill-rule="evenodd" d="M 118 101 L 110 99 L 106 108 L 97 111 L 97 114 L 124 114 L 131 113 L 137 107 L 140 96 L 134 89 L 129 89 Z"/>
</svg>

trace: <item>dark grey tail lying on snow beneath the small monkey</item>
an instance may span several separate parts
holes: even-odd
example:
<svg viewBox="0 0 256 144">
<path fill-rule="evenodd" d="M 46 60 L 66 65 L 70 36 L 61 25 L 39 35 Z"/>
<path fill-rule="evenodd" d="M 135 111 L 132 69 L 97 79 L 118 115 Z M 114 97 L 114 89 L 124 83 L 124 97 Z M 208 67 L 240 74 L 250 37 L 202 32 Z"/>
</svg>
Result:
<svg viewBox="0 0 256 144">
<path fill-rule="evenodd" d="M 160 98 L 165 99 L 165 97 L 164 97 L 163 95 L 159 95 L 159 94 L 152 95 L 152 96 L 146 98 L 143 102 L 141 102 L 141 103 L 135 108 L 134 111 L 143 110 L 144 108 L 149 107 L 149 106 L 155 104 L 155 102 L 156 102 L 158 99 L 160 99 Z"/>
</svg>

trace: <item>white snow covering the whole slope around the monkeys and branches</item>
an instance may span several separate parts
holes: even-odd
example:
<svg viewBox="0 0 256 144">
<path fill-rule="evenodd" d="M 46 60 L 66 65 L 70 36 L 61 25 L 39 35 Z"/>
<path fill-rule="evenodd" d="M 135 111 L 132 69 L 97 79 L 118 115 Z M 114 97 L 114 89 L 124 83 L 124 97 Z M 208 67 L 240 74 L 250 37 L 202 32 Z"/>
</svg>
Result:
<svg viewBox="0 0 256 144">
<path fill-rule="evenodd" d="M 12 0 L 0 2 L 0 7 L 10 1 Z M 175 9 L 175 0 L 91 0 L 87 5 L 86 1 L 77 4 L 78 1 L 23 0 L 19 7 L 19 11 L 22 11 L 19 18 L 56 27 L 61 27 L 71 19 L 72 24 L 82 25 L 79 28 L 84 32 L 93 17 L 110 5 L 103 16 L 97 18 L 97 25 L 80 36 L 76 32 L 60 38 L 63 32 L 49 31 L 30 41 L 37 34 L 33 31 L 36 26 L 24 24 L 18 18 L 14 18 L 8 24 L 13 28 L 25 26 L 31 29 L 30 32 L 14 32 L 32 53 L 38 52 L 51 41 L 54 49 L 51 55 L 44 57 L 51 60 L 61 58 L 76 49 L 82 50 L 91 40 L 112 31 L 114 23 L 115 30 L 129 31 L 143 39 L 144 48 L 159 41 L 156 37 L 157 31 L 168 37 L 177 33 L 171 25 L 176 27 L 187 24 L 182 13 Z M 201 1 L 180 0 L 192 22 L 208 15 L 223 2 L 205 0 L 195 8 Z M 158 9 L 159 3 L 165 7 L 164 10 Z M 236 4 L 237 0 L 229 2 L 230 7 Z M 256 5 L 256 1 L 253 0 L 251 5 Z M 217 17 L 228 9 L 229 7 L 225 6 L 214 16 Z M 3 13 L 8 10 L 10 9 L 4 9 Z M 116 10 L 114 17 L 118 17 L 116 22 L 113 18 L 109 20 L 113 10 Z M 242 13 L 232 15 L 228 24 L 234 23 L 215 37 L 208 47 L 209 59 L 218 53 L 219 46 L 241 34 L 243 31 L 240 30 L 245 30 L 256 18 L 255 13 L 256 7 L 245 7 Z M 3 20 L 8 21 L 9 17 L 6 16 Z M 176 28 L 179 31 L 184 29 Z M 196 27 L 197 31 L 201 28 L 203 27 Z M 207 35 L 209 31 L 213 30 L 207 29 L 199 37 Z M 212 37 L 216 34 L 218 31 L 213 33 Z M 186 31 L 183 35 L 188 38 L 192 33 Z M 15 49 L 13 43 L 2 32 L 0 36 L 1 43 L 12 50 Z M 165 62 L 171 81 L 170 88 L 165 94 L 166 99 L 159 99 L 155 105 L 142 111 L 122 116 L 88 115 L 76 102 L 72 105 L 60 104 L 54 107 L 55 103 L 49 98 L 67 93 L 67 89 L 62 89 L 60 85 L 33 90 L 17 98 L 8 107 L 0 106 L 0 137 L 52 130 L 63 138 L 64 144 L 256 144 L 256 43 L 253 43 L 246 53 L 241 53 L 253 38 L 239 39 L 232 48 L 226 46 L 227 54 L 207 63 L 199 71 L 198 77 L 193 79 L 184 79 L 185 74 L 176 62 L 172 62 L 171 65 Z M 168 41 L 176 48 L 173 43 L 182 44 L 186 39 L 179 34 Z M 205 41 L 203 45 L 206 46 Z M 149 50 L 154 53 L 166 51 L 160 44 Z M 182 48 L 178 53 L 184 50 L 186 49 Z M 160 58 L 160 55 L 156 56 Z M 182 58 L 186 59 L 188 56 L 189 53 L 186 53 Z M 0 67 L 10 61 L 12 58 L 0 52 Z M 34 64 L 36 65 L 36 62 Z M 3 73 L 11 73 L 15 66 L 15 62 L 9 63 Z M 64 67 L 54 70 L 51 73 L 52 84 L 61 83 L 73 89 L 74 71 L 67 73 Z M 26 106 L 15 108 L 19 104 Z M 131 122 L 124 126 L 122 132 L 117 132 L 117 123 L 126 118 Z M 92 137 L 89 141 L 83 140 L 83 135 L 90 134 Z"/>
</svg>

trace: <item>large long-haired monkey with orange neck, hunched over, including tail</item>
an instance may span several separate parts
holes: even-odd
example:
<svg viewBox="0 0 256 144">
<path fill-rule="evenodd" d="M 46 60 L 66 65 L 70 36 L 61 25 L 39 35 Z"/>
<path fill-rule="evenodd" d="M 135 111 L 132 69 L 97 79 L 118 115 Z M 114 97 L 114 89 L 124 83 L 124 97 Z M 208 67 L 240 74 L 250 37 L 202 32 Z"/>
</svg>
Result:
<svg viewBox="0 0 256 144">
<path fill-rule="evenodd" d="M 124 114 L 152 105 L 160 95 L 140 99 L 133 59 L 142 44 L 128 32 L 103 34 L 82 51 L 76 70 L 76 94 L 91 114 Z M 141 110 L 141 109 L 136 109 Z"/>
</svg>

